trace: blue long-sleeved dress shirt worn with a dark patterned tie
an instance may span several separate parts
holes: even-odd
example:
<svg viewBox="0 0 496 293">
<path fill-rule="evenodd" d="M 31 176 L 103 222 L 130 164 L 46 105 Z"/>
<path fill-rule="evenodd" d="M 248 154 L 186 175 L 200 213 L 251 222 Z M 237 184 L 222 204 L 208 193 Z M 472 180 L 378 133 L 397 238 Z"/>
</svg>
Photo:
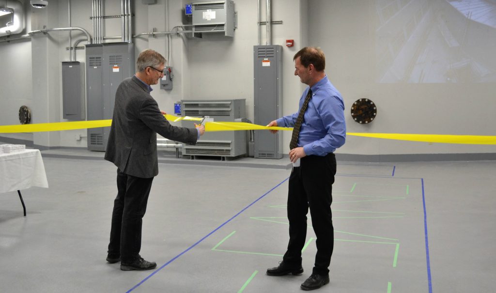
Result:
<svg viewBox="0 0 496 293">
<path fill-rule="evenodd" d="M 298 109 L 302 108 L 309 89 L 307 87 L 303 92 Z M 298 146 L 303 146 L 306 155 L 325 156 L 342 146 L 346 139 L 343 97 L 327 75 L 315 83 L 311 90 L 312 98 L 304 115 Z M 294 126 L 299 112 L 277 119 L 277 125 Z"/>
</svg>

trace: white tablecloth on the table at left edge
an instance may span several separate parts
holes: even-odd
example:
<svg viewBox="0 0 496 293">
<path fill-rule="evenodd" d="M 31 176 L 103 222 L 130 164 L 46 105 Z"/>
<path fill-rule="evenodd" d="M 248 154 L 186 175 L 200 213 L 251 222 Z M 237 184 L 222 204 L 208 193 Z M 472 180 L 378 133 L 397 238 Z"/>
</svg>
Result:
<svg viewBox="0 0 496 293">
<path fill-rule="evenodd" d="M 48 188 L 40 150 L 0 154 L 0 193 L 31 186 Z"/>
</svg>

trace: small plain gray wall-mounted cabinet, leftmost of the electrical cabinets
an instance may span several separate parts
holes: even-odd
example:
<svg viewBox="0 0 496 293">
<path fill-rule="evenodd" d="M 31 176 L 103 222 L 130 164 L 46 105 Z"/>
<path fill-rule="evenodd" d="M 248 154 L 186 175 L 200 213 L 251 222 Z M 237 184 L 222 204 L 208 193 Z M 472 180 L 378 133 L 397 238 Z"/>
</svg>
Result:
<svg viewBox="0 0 496 293">
<path fill-rule="evenodd" d="M 84 99 L 84 63 L 62 62 L 62 112 L 63 118 L 86 118 Z"/>
</svg>

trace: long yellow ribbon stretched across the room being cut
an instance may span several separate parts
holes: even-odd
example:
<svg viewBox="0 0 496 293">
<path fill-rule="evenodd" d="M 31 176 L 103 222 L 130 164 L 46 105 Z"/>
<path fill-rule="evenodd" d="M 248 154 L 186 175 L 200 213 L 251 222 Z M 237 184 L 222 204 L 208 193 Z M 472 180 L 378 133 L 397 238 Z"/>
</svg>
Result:
<svg viewBox="0 0 496 293">
<path fill-rule="evenodd" d="M 181 120 L 199 121 L 197 117 L 177 117 L 174 115 L 164 115 L 167 120 L 177 122 Z M 0 133 L 19 133 L 19 132 L 44 132 L 44 131 L 62 131 L 74 129 L 86 129 L 107 127 L 112 124 L 112 119 L 107 120 L 90 120 L 90 121 L 71 121 L 71 122 L 54 122 L 54 123 L 37 123 L 21 125 L 3 125 L 0 126 Z M 289 127 L 267 127 L 246 122 L 206 122 L 205 131 L 232 131 L 232 130 L 292 130 Z M 446 134 L 401 134 L 401 133 L 359 133 L 348 132 L 346 135 L 363 136 L 371 138 L 421 141 L 431 143 L 456 143 L 456 144 L 487 144 L 496 145 L 496 136 L 491 135 L 446 135 Z"/>
</svg>

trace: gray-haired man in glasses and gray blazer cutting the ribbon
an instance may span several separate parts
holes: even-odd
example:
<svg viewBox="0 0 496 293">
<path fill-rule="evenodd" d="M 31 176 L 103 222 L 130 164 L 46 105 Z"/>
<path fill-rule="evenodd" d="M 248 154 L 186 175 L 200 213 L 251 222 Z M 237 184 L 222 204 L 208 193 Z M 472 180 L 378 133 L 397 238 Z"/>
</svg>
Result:
<svg viewBox="0 0 496 293">
<path fill-rule="evenodd" d="M 152 180 L 158 174 L 157 133 L 165 138 L 196 143 L 205 127 L 173 126 L 150 96 L 150 85 L 164 74 L 165 58 L 153 50 L 138 56 L 138 72 L 125 79 L 116 92 L 114 117 L 105 160 L 117 166 L 117 197 L 114 200 L 107 261 L 121 261 L 121 270 L 150 270 L 157 264 L 140 255 L 141 226 Z"/>
</svg>

